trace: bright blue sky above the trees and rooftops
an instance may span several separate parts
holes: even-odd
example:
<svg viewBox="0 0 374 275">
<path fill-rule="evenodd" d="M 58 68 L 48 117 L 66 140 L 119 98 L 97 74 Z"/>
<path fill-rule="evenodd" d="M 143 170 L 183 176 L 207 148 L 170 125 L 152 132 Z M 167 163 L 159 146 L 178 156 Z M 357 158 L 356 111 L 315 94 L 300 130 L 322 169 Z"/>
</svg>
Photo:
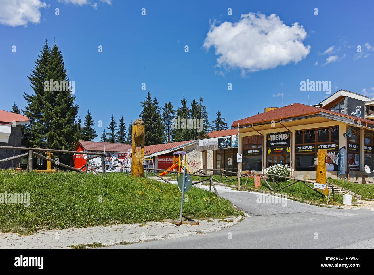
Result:
<svg viewBox="0 0 374 275">
<path fill-rule="evenodd" d="M 79 116 L 83 120 L 90 109 L 98 134 L 104 129 L 98 120 L 106 127 L 112 114 L 117 121 L 123 114 L 126 126 L 138 118 L 148 91 L 160 105 L 171 101 L 175 108 L 183 96 L 188 104 L 201 96 L 209 120 L 220 110 L 229 126 L 280 107 L 281 93 L 283 106 L 308 104 L 308 95 L 310 104 L 324 100 L 323 91 L 300 91 L 306 79 L 331 81 L 332 94 L 344 89 L 374 96 L 373 2 L 178 2 L 45 0 L 20 15 L 15 1 L 2 1 L 0 109 L 13 102 L 24 108 L 22 94 L 31 92 L 27 76 L 45 39 L 61 49 Z M 272 14 L 279 18 L 270 20 Z M 233 35 L 239 28 L 242 33 Z M 264 54 L 273 44 L 273 55 Z"/>
</svg>

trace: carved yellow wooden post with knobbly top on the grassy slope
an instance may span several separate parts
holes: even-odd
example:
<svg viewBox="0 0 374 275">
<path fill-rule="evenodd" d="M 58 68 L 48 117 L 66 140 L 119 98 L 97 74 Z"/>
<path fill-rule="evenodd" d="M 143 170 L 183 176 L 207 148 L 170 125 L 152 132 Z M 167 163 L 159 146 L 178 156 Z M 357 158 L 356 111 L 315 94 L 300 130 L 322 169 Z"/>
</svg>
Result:
<svg viewBox="0 0 374 275">
<path fill-rule="evenodd" d="M 132 125 L 132 152 L 131 152 L 131 175 L 135 177 L 143 176 L 144 169 L 144 136 L 145 125 L 141 118 L 134 121 Z M 141 151 L 136 149 L 136 145 L 141 146 Z"/>
</svg>

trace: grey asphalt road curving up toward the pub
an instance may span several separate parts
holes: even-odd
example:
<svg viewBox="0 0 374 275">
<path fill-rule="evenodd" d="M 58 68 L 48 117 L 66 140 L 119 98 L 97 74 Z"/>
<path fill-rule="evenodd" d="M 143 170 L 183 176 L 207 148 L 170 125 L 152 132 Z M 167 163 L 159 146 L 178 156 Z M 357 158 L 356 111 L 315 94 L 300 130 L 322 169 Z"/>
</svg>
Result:
<svg viewBox="0 0 374 275">
<path fill-rule="evenodd" d="M 229 199 L 251 217 L 218 232 L 102 249 L 374 248 L 373 210 L 325 208 L 291 200 L 287 200 L 286 206 L 259 204 L 255 193 L 222 186 L 217 189 L 221 197 Z"/>
</svg>

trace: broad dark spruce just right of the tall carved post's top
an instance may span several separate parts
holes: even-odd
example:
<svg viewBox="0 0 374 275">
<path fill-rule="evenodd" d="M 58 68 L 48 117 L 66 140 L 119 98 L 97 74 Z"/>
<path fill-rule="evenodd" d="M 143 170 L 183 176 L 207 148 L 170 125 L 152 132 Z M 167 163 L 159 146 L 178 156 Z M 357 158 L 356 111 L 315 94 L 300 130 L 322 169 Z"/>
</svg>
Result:
<svg viewBox="0 0 374 275">
<path fill-rule="evenodd" d="M 140 117 L 145 125 L 145 145 L 153 145 L 165 143 L 165 131 L 162 123 L 160 106 L 156 97 L 151 98 L 151 93 L 145 97 L 141 102 L 143 109 L 140 112 Z"/>
</svg>

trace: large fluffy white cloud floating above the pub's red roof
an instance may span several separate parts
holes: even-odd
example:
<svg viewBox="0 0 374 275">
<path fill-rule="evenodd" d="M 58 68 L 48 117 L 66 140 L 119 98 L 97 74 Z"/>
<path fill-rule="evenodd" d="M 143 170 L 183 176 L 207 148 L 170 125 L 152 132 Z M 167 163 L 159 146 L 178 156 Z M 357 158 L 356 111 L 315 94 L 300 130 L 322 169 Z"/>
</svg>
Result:
<svg viewBox="0 0 374 275">
<path fill-rule="evenodd" d="M 310 52 L 302 43 L 306 34 L 298 22 L 287 26 L 276 14 L 248 13 L 239 22 L 214 22 L 203 46 L 214 46 L 218 67 L 237 67 L 243 74 L 301 61 Z"/>
</svg>

